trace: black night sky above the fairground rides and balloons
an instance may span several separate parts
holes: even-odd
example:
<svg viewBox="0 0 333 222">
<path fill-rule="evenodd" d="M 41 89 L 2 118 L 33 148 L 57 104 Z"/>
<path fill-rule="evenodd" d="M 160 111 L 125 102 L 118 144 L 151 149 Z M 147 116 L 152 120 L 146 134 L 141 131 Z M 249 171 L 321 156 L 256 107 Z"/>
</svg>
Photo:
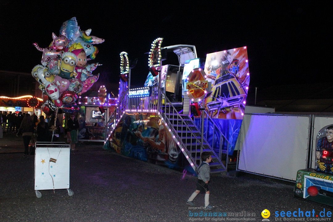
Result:
<svg viewBox="0 0 333 222">
<path fill-rule="evenodd" d="M 0 70 L 31 73 L 42 58 L 32 43 L 49 46 L 52 32 L 59 35 L 62 22 L 76 17 L 82 30 L 91 28 L 91 35 L 105 39 L 95 45 L 99 53 L 94 62 L 103 66 L 93 74 L 101 73 L 100 84 L 118 85 L 119 54 L 126 51 L 130 60 L 138 58 L 131 85 L 143 86 L 148 74 L 145 53 L 158 37 L 164 38 L 162 47 L 195 45 L 203 59 L 207 53 L 247 46 L 249 94 L 255 87 L 333 82 L 330 1 L 128 1 L 90 6 L 15 2 L 0 3 Z M 118 89 L 111 90 L 118 94 Z"/>
</svg>

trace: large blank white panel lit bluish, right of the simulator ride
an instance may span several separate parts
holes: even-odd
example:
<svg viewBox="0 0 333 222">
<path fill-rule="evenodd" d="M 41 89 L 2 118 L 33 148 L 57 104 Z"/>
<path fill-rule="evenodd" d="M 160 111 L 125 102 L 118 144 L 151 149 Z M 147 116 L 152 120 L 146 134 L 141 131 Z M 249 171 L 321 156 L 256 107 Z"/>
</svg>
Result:
<svg viewBox="0 0 333 222">
<path fill-rule="evenodd" d="M 296 180 L 305 169 L 310 116 L 244 115 L 238 169 Z"/>
</svg>

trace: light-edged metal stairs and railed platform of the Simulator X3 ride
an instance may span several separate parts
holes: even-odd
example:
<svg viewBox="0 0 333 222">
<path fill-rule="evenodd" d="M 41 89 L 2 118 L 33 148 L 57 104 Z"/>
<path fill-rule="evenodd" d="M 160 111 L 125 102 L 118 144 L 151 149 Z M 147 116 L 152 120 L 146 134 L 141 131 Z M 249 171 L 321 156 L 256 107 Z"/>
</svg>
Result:
<svg viewBox="0 0 333 222">
<path fill-rule="evenodd" d="M 221 161 L 220 153 L 216 154 L 206 138 L 201 138 L 201 132 L 187 114 L 179 114 L 164 92 L 159 87 L 153 87 L 150 97 L 128 98 L 127 93 L 120 96 L 118 106 L 106 127 L 106 141 L 109 139 L 116 125 L 126 112 L 157 112 L 163 124 L 180 147 L 194 170 L 201 164 L 200 154 L 203 151 L 212 153 L 212 162 L 209 164 L 210 173 L 226 172 L 226 165 Z M 223 135 L 224 136 L 224 135 Z"/>
</svg>

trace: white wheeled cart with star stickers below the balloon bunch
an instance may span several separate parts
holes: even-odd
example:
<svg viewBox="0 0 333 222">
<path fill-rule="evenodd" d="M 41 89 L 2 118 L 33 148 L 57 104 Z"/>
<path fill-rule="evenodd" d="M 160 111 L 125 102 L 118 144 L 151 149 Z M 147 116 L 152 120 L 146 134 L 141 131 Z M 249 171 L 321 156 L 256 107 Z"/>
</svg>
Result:
<svg viewBox="0 0 333 222">
<path fill-rule="evenodd" d="M 36 142 L 35 150 L 35 193 L 42 197 L 39 190 L 69 189 L 69 157 L 71 147 L 64 142 Z"/>
</svg>

